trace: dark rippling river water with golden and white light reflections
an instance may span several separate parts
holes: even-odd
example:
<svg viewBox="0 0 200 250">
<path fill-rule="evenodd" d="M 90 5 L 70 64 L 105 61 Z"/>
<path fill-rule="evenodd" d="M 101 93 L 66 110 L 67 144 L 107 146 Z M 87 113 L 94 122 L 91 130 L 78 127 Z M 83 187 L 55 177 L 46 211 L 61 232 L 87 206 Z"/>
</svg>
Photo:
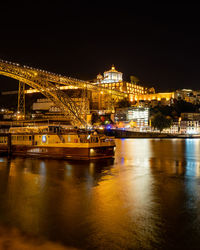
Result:
<svg viewBox="0 0 200 250">
<path fill-rule="evenodd" d="M 200 249 L 200 140 L 116 142 L 99 162 L 0 157 L 0 247 Z"/>
</svg>

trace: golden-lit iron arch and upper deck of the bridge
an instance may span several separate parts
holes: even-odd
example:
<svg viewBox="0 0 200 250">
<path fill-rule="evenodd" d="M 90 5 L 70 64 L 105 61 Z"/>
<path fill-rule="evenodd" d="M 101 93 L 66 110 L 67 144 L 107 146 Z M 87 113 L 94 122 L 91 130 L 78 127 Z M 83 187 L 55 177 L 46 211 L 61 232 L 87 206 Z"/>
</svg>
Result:
<svg viewBox="0 0 200 250">
<path fill-rule="evenodd" d="M 97 93 L 103 92 L 110 96 L 111 99 L 124 98 L 126 96 L 123 92 L 109 90 L 87 81 L 3 60 L 0 60 L 0 75 L 16 79 L 21 84 L 24 83 L 29 85 L 42 93 L 46 98 L 51 100 L 67 118 L 69 118 L 70 115 L 70 117 L 72 117 L 72 124 L 76 126 L 87 126 L 86 108 L 84 105 L 87 90 Z M 77 103 L 69 95 L 67 95 L 66 92 L 61 90 L 61 85 L 73 86 L 75 88 L 82 89 L 83 104 L 77 105 Z"/>
</svg>

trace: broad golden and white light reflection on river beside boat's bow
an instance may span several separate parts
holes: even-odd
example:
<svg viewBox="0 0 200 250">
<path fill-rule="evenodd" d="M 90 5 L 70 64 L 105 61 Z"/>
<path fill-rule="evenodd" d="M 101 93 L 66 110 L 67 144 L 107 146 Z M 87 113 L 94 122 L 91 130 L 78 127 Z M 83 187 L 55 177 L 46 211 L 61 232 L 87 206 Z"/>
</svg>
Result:
<svg viewBox="0 0 200 250">
<path fill-rule="evenodd" d="M 117 146 L 122 149 L 116 155 L 120 161 L 116 160 L 110 178 L 107 176 L 106 181 L 99 181 L 99 185 L 94 188 L 92 200 L 94 209 L 91 217 L 96 225 L 95 231 L 101 232 L 104 241 L 116 242 L 116 237 L 119 237 L 118 241 L 123 245 L 128 240 L 128 234 L 123 228 L 127 228 L 133 234 L 139 235 L 141 240 L 147 239 L 142 243 L 145 249 L 148 238 L 150 240 L 150 237 L 159 234 L 156 221 L 152 220 L 157 215 L 153 209 L 155 204 L 154 178 L 150 171 L 151 141 L 118 140 Z M 96 218 L 99 218 L 98 221 Z M 151 228 L 151 236 L 147 228 Z M 104 241 L 100 246 L 102 248 Z"/>
</svg>

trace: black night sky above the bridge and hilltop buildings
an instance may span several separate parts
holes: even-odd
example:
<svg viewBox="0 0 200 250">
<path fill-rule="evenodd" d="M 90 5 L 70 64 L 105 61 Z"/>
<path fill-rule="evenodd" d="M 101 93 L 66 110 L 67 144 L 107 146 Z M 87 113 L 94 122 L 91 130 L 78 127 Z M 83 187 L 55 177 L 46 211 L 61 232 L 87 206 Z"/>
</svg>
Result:
<svg viewBox="0 0 200 250">
<path fill-rule="evenodd" d="M 82 80 L 114 64 L 157 92 L 200 89 L 198 4 L 58 3 L 2 6 L 0 58 Z M 0 76 L 10 89 L 17 82 Z"/>
</svg>

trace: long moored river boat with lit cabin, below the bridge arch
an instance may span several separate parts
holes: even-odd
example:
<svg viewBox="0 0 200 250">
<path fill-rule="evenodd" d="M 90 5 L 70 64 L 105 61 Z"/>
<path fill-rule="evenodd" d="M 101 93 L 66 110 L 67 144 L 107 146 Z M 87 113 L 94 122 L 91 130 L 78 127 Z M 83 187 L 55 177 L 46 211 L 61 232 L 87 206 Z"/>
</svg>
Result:
<svg viewBox="0 0 200 250">
<path fill-rule="evenodd" d="M 65 126 L 11 127 L 0 134 L 0 153 L 73 160 L 114 156 L 113 138 Z"/>
</svg>

